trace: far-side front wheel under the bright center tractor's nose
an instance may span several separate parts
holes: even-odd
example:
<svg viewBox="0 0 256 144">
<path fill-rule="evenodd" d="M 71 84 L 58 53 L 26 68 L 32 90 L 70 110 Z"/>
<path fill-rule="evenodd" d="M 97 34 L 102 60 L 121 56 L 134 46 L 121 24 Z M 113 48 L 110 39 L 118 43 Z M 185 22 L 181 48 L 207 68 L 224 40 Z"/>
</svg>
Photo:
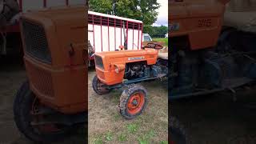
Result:
<svg viewBox="0 0 256 144">
<path fill-rule="evenodd" d="M 94 89 L 95 93 L 97 93 L 99 95 L 110 93 L 110 90 L 106 89 L 106 87 L 104 87 L 106 85 L 99 81 L 97 75 L 94 76 L 92 85 L 93 85 L 93 89 Z"/>
</svg>

